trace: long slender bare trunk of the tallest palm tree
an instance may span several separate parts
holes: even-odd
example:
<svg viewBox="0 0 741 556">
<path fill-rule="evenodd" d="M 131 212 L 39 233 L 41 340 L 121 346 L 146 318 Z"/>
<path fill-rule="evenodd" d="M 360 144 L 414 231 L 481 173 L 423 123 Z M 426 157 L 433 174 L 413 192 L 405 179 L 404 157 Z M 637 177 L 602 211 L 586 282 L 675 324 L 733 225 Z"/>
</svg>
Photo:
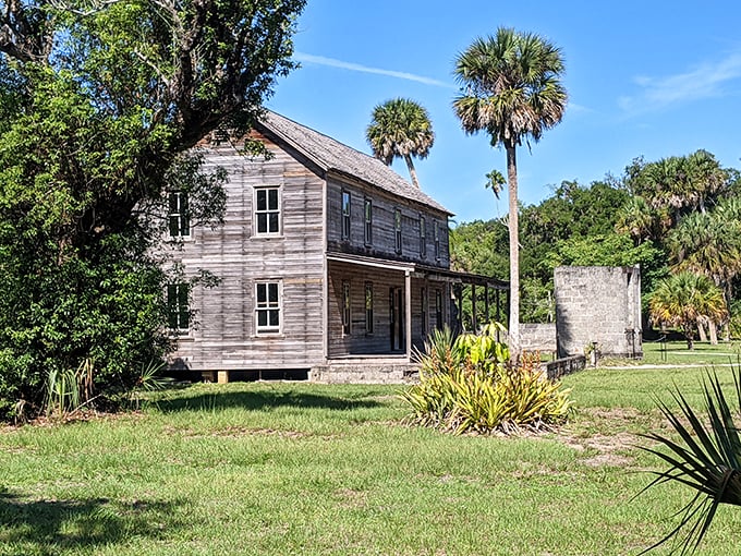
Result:
<svg viewBox="0 0 741 556">
<path fill-rule="evenodd" d="M 520 358 L 520 227 L 518 221 L 518 161 L 512 142 L 507 149 L 507 186 L 509 189 L 509 235 L 510 235 L 510 359 Z"/>
</svg>

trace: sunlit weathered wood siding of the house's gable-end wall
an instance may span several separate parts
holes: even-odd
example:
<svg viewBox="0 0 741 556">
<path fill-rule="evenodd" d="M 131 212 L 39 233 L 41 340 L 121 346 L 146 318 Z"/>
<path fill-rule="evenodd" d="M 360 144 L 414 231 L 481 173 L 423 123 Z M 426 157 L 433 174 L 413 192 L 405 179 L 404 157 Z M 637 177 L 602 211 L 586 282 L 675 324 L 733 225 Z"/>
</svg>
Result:
<svg viewBox="0 0 741 556">
<path fill-rule="evenodd" d="M 207 269 L 221 280 L 197 287 L 196 326 L 174 359 L 193 370 L 303 368 L 324 361 L 324 180 L 297 155 L 266 141 L 274 157 L 250 161 L 233 147 L 207 150 L 207 164 L 229 171 L 224 225 L 196 227 L 180 256 L 187 274 Z M 281 233 L 259 237 L 255 186 L 280 188 Z M 282 288 L 280 334 L 256 333 L 255 283 Z"/>
</svg>

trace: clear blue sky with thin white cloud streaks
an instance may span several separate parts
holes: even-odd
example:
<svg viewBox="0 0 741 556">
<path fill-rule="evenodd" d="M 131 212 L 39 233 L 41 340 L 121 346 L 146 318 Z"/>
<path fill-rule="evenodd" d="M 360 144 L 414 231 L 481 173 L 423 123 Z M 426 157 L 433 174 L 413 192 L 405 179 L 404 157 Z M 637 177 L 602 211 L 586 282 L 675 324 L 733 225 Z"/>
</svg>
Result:
<svg viewBox="0 0 741 556">
<path fill-rule="evenodd" d="M 499 26 L 540 34 L 566 60 L 569 107 L 518 153 L 520 198 L 535 204 L 563 180 L 590 184 L 630 161 L 704 148 L 741 168 L 741 2 L 308 0 L 294 37 L 302 68 L 280 78 L 268 108 L 370 153 L 373 108 L 409 97 L 429 111 L 422 189 L 459 222 L 507 213 L 484 189 L 506 174 L 505 152 L 465 135 L 451 108 L 455 57 Z M 408 178 L 402 160 L 393 168 Z"/>
</svg>

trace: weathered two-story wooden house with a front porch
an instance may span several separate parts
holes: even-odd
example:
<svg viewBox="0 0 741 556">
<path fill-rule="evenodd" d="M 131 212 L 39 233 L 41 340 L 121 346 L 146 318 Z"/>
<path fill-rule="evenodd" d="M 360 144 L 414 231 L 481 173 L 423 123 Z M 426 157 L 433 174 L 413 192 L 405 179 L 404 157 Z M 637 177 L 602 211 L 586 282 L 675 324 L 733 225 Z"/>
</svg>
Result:
<svg viewBox="0 0 741 556">
<path fill-rule="evenodd" d="M 451 214 L 380 160 L 269 111 L 252 136 L 269 158 L 204 143 L 229 172 L 223 226 L 190 226 L 186 198 L 170 193 L 179 262 L 220 279 L 170 286 L 172 368 L 396 382 L 430 330 L 459 324 L 457 285 L 485 288 L 487 312 L 506 288 L 450 270 Z"/>
</svg>

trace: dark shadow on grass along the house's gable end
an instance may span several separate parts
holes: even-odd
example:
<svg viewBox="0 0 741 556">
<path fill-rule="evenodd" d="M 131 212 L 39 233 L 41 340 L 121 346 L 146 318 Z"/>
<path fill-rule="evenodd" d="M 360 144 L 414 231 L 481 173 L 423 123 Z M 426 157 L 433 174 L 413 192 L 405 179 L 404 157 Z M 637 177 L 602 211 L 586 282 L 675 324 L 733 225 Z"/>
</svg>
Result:
<svg viewBox="0 0 741 556">
<path fill-rule="evenodd" d="M 241 408 L 247 410 L 270 410 L 275 408 L 329 409 L 352 411 L 355 409 L 377 408 L 381 404 L 375 400 L 353 400 L 337 396 L 299 391 L 219 391 L 204 392 L 195 396 L 179 396 L 174 399 L 162 399 L 157 403 L 163 413 L 175 411 L 222 410 Z"/>
</svg>

